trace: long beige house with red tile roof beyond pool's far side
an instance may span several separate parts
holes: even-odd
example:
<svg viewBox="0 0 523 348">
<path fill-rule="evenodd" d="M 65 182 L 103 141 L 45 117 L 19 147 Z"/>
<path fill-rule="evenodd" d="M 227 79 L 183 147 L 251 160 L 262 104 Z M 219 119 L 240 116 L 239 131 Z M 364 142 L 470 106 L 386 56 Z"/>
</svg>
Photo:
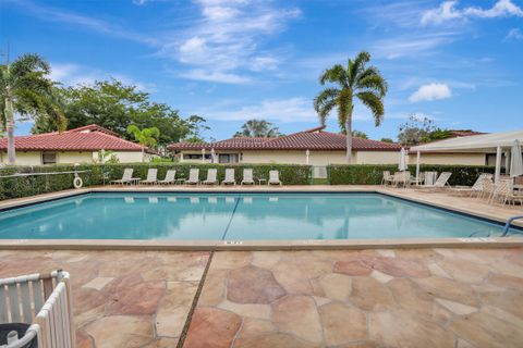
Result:
<svg viewBox="0 0 523 348">
<path fill-rule="evenodd" d="M 463 136 L 464 134 L 460 134 Z M 470 135 L 470 134 L 466 134 Z M 459 135 L 457 135 L 459 136 Z M 325 130 L 325 126 L 278 138 L 235 137 L 210 144 L 177 142 L 168 149 L 181 162 L 345 164 L 346 137 Z M 401 145 L 362 139 L 352 140 L 352 163 L 396 164 Z M 215 154 L 214 159 L 212 156 Z M 485 154 L 427 153 L 425 164 L 486 164 Z"/>
</svg>

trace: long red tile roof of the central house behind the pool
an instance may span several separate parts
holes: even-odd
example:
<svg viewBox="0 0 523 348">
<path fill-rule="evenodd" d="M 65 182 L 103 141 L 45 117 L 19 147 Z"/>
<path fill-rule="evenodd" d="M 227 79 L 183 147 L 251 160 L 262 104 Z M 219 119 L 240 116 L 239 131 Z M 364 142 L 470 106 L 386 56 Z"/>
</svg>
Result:
<svg viewBox="0 0 523 348">
<path fill-rule="evenodd" d="M 169 150 L 345 150 L 346 137 L 323 130 L 325 126 L 294 133 L 278 138 L 238 137 L 217 142 L 177 142 Z M 401 145 L 362 138 L 352 138 L 356 151 L 399 151 Z"/>
</svg>

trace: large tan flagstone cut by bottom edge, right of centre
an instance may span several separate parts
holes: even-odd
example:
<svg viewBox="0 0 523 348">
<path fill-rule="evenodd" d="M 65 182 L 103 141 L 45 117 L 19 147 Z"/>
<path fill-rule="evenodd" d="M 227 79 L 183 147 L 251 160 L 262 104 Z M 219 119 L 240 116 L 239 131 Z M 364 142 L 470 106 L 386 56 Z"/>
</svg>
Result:
<svg viewBox="0 0 523 348">
<path fill-rule="evenodd" d="M 451 332 L 405 310 L 370 313 L 368 325 L 379 347 L 454 347 Z"/>
</svg>

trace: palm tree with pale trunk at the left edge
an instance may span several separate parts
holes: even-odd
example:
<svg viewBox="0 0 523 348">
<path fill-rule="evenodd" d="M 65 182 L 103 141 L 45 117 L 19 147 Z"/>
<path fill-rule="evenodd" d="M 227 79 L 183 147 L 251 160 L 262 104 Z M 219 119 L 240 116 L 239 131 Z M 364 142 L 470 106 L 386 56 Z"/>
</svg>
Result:
<svg viewBox="0 0 523 348">
<path fill-rule="evenodd" d="M 14 164 L 14 114 L 48 120 L 59 132 L 66 119 L 57 100 L 54 83 L 48 79 L 51 69 L 38 54 L 24 54 L 0 65 L 0 122 L 8 133 L 8 160 Z"/>
</svg>

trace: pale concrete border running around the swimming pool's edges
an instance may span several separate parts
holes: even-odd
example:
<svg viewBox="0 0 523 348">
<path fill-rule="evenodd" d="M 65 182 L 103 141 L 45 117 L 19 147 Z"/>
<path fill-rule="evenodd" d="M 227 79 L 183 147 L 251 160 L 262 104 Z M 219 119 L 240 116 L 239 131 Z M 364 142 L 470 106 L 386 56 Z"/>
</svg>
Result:
<svg viewBox="0 0 523 348">
<path fill-rule="evenodd" d="M 449 191 L 402 189 L 370 185 L 351 186 L 97 186 L 65 190 L 29 198 L 0 202 L 1 209 L 36 203 L 49 199 L 96 191 L 149 192 L 380 192 L 415 202 L 430 204 L 457 212 L 472 214 L 504 223 L 507 219 L 523 214 L 522 207 L 489 204 L 484 199 L 452 195 Z M 523 226 L 523 221 L 515 225 Z M 372 248 L 492 248 L 523 247 L 523 238 L 411 238 L 411 239 L 338 239 L 338 240 L 115 240 L 115 239 L 0 239 L 0 249 L 54 249 L 80 250 L 306 250 L 306 249 L 372 249 Z"/>
</svg>

